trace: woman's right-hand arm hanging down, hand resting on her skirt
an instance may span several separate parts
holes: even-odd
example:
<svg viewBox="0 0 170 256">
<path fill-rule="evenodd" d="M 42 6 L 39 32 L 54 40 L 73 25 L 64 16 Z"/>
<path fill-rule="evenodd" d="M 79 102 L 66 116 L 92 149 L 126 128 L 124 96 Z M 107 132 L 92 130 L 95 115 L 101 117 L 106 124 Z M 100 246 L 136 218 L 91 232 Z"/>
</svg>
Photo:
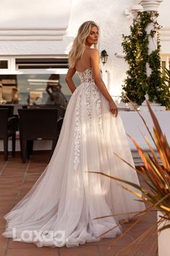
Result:
<svg viewBox="0 0 170 256">
<path fill-rule="evenodd" d="M 104 82 L 100 76 L 100 71 L 99 71 L 99 52 L 97 49 L 91 49 L 90 53 L 90 59 L 91 59 L 91 68 L 92 68 L 92 73 L 94 77 L 94 82 L 101 91 L 102 95 L 109 101 L 109 111 L 112 112 L 112 114 L 115 114 L 117 116 L 118 114 L 118 108 L 113 101 L 111 95 L 109 94 L 106 85 L 104 85 Z"/>
</svg>

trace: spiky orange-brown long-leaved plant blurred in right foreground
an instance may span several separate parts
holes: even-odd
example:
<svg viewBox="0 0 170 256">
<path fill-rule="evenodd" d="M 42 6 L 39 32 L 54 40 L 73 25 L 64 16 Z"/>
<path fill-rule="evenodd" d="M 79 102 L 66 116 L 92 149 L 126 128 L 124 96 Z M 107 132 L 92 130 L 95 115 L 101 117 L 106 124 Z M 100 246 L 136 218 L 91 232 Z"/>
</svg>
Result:
<svg viewBox="0 0 170 256">
<path fill-rule="evenodd" d="M 128 100 L 130 101 L 129 98 Z M 130 103 L 133 105 L 131 101 Z M 137 247 L 138 248 L 136 249 L 135 253 L 138 253 L 138 251 L 140 250 L 140 247 L 142 247 L 143 245 L 142 243 L 147 242 L 148 237 L 153 235 L 154 232 L 159 234 L 159 232 L 163 231 L 164 229 L 170 229 L 170 148 L 169 148 L 169 143 L 166 140 L 166 135 L 164 135 L 163 132 L 161 131 L 161 127 L 158 124 L 158 120 L 156 119 L 156 116 L 153 113 L 148 101 L 147 101 L 147 105 L 148 105 L 148 110 L 151 114 L 151 118 L 153 120 L 153 135 L 151 133 L 151 130 L 148 128 L 148 125 L 146 124 L 145 119 L 143 119 L 143 116 L 140 114 L 138 109 L 135 108 L 134 105 L 133 107 L 135 108 L 135 111 L 138 112 L 141 119 L 143 120 L 146 126 L 146 129 L 148 130 L 148 133 L 151 136 L 151 140 L 155 145 L 158 155 L 156 155 L 156 152 L 153 149 L 151 142 L 149 142 L 148 138 L 145 135 L 143 135 L 143 138 L 146 141 L 148 148 L 150 149 L 150 153 L 145 153 L 145 151 L 142 148 L 140 148 L 140 146 L 133 139 L 133 137 L 130 137 L 130 135 L 128 135 L 130 139 L 133 141 L 135 148 L 137 148 L 138 150 L 140 158 L 143 161 L 143 166 L 139 166 L 138 169 L 134 168 L 129 163 L 127 163 L 124 159 L 120 158 L 119 155 L 115 154 L 117 155 L 118 158 L 120 158 L 122 161 L 127 163 L 128 166 L 131 166 L 133 169 L 135 169 L 135 171 L 137 171 L 138 174 L 143 177 L 143 181 L 146 183 L 146 187 L 138 186 L 138 184 L 134 184 L 133 182 L 130 182 L 124 179 L 119 179 L 115 176 L 109 176 L 102 172 L 90 171 L 91 173 L 102 174 L 104 176 L 108 176 L 111 179 L 115 179 L 117 181 L 131 185 L 132 187 L 134 187 L 135 189 L 138 189 L 142 193 L 138 193 L 133 189 L 129 189 L 128 187 L 125 187 L 125 186 L 122 186 L 122 187 L 123 189 L 127 189 L 129 192 L 138 196 L 140 198 L 140 201 L 146 202 L 148 204 L 148 208 L 146 208 L 146 210 L 139 213 L 135 213 L 134 217 L 138 217 L 137 220 L 135 220 L 135 222 L 132 223 L 132 225 L 128 229 L 126 229 L 126 231 L 115 240 L 114 244 L 117 242 L 117 240 L 121 239 L 122 236 L 127 234 L 128 231 L 133 229 L 133 227 L 137 223 L 139 223 L 141 219 L 145 217 L 151 210 L 161 211 L 161 216 L 159 216 L 160 218 L 157 221 L 157 223 L 154 223 L 153 226 L 150 226 L 149 229 L 144 231 L 142 235 L 140 235 L 137 239 L 135 239 L 133 242 L 128 244 L 128 246 L 125 247 L 125 249 L 122 249 L 120 253 L 117 253 L 117 255 L 122 255 L 122 251 L 126 253 L 125 255 L 128 255 L 127 253 L 132 252 L 132 250 L 134 252 L 134 248 L 136 249 Z M 106 218 L 106 217 L 108 216 L 101 216 L 99 218 Z M 127 221 L 122 221 L 121 225 L 124 223 L 127 223 Z M 111 230 L 112 229 L 110 229 L 109 231 Z"/>
</svg>

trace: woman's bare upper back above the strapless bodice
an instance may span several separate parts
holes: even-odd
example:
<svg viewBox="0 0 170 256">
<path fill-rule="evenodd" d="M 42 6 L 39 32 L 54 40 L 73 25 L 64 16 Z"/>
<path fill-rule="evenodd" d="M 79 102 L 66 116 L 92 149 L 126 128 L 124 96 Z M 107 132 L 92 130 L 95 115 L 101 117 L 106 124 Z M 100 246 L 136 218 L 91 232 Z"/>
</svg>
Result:
<svg viewBox="0 0 170 256">
<path fill-rule="evenodd" d="M 81 58 L 76 61 L 75 68 L 77 71 L 83 72 L 91 67 L 90 51 L 90 49 L 86 49 Z"/>
</svg>

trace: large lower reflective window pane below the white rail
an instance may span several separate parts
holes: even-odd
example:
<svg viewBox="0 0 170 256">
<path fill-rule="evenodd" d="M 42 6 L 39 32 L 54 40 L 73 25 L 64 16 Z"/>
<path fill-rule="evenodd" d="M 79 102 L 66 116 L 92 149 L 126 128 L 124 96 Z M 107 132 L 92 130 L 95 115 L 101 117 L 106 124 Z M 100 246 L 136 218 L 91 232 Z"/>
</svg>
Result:
<svg viewBox="0 0 170 256">
<path fill-rule="evenodd" d="M 0 101 L 16 104 L 53 104 L 60 101 L 60 96 L 69 101 L 72 93 L 65 78 L 66 74 L 0 75 Z M 79 77 L 76 75 L 73 81 L 78 85 Z"/>
</svg>

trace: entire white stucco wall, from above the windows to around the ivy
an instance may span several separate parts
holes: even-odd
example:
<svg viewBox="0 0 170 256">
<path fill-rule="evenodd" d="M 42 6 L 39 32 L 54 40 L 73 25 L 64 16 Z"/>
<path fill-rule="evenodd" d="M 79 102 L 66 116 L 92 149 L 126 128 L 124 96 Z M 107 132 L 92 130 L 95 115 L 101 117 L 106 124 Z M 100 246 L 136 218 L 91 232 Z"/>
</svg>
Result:
<svg viewBox="0 0 170 256">
<path fill-rule="evenodd" d="M 109 54 L 103 67 L 103 79 L 112 95 L 120 95 L 122 80 L 128 64 L 115 53 L 122 53 L 122 33 L 128 35 L 132 18 L 124 14 L 139 0 L 1 0 L 0 9 L 0 55 L 56 55 L 68 53 L 73 37 L 82 22 L 94 20 L 100 27 L 99 51 L 105 49 Z M 164 26 L 162 52 L 170 52 L 170 21 L 167 9 L 169 0 L 161 3 L 159 23 Z M 68 21 L 69 20 L 69 21 Z M 68 25 L 63 40 L 59 40 L 58 31 Z M 21 29 L 24 30 L 21 31 Z M 37 40 L 4 40 L 3 33 L 8 31 L 19 35 L 35 33 Z M 169 32 L 167 32 L 169 31 Z M 3 40 L 1 39 L 3 38 Z M 46 39 L 45 39 L 46 38 Z M 167 40 L 168 38 L 168 40 Z M 107 73 L 104 71 L 107 69 Z"/>
</svg>

